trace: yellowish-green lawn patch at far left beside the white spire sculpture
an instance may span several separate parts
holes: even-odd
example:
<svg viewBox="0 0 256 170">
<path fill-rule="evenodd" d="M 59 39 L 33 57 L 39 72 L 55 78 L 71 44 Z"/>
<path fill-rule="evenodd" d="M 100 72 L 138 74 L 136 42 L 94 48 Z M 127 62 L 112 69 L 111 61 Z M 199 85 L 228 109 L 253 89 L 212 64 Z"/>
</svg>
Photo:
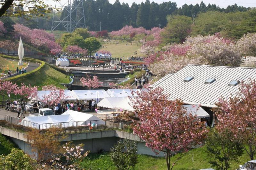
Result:
<svg viewBox="0 0 256 170">
<path fill-rule="evenodd" d="M 19 69 L 22 69 L 23 67 L 26 67 L 28 65 L 27 62 L 23 62 L 23 66 L 18 66 L 17 60 L 11 60 L 7 58 L 0 57 L 0 73 L 7 74 L 8 70 L 10 69 L 12 71 L 12 74 L 16 73 L 17 67 Z M 1 75 L 0 75 L 1 77 Z"/>
</svg>

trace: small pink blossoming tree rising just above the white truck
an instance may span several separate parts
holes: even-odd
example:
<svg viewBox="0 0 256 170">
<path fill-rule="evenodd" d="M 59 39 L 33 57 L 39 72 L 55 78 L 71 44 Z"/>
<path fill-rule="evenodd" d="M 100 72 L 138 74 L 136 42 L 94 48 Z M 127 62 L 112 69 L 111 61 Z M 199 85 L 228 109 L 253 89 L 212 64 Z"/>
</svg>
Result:
<svg viewBox="0 0 256 170">
<path fill-rule="evenodd" d="M 68 96 L 65 95 L 65 92 L 63 89 L 60 89 L 54 85 L 43 86 L 42 90 L 51 91 L 49 94 L 45 94 L 43 96 L 43 101 L 49 106 L 53 106 L 54 104 L 57 104 L 61 100 L 68 98 Z"/>
</svg>

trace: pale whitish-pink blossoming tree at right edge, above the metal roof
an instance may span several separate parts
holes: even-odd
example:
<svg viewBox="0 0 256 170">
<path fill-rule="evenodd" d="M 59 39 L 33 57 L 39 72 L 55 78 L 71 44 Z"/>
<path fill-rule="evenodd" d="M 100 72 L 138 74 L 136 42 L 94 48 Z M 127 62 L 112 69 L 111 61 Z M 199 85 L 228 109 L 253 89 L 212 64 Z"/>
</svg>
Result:
<svg viewBox="0 0 256 170">
<path fill-rule="evenodd" d="M 256 33 L 247 33 L 237 41 L 236 46 L 243 55 L 256 56 Z"/>
</svg>

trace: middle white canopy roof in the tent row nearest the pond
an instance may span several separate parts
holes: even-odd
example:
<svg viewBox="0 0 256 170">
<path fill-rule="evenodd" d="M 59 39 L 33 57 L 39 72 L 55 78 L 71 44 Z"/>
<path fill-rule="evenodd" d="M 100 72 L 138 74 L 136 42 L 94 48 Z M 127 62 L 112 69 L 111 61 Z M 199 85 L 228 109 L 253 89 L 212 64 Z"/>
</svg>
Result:
<svg viewBox="0 0 256 170">
<path fill-rule="evenodd" d="M 99 99 L 109 97 L 105 90 L 72 90 L 71 92 L 77 100 L 96 100 L 97 92 L 99 92 Z"/>
</svg>

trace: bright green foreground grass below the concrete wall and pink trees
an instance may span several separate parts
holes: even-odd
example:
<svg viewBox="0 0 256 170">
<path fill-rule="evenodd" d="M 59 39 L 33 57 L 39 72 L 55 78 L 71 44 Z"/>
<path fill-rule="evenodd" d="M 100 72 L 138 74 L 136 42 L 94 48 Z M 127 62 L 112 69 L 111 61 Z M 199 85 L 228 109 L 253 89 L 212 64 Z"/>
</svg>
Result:
<svg viewBox="0 0 256 170">
<path fill-rule="evenodd" d="M 173 159 L 177 158 L 179 154 L 175 155 Z M 205 147 L 197 148 L 185 154 L 173 167 L 174 170 L 199 170 L 203 168 L 210 168 L 210 156 L 205 152 Z M 237 169 L 239 165 L 244 164 L 249 160 L 247 154 L 239 157 L 238 162 L 231 162 L 230 170 Z M 138 155 L 138 164 L 135 170 L 166 170 L 166 163 L 164 158 L 157 158 L 147 155 Z M 102 154 L 90 153 L 88 157 L 81 163 L 81 168 L 92 170 L 115 170 L 108 152 Z"/>
</svg>

